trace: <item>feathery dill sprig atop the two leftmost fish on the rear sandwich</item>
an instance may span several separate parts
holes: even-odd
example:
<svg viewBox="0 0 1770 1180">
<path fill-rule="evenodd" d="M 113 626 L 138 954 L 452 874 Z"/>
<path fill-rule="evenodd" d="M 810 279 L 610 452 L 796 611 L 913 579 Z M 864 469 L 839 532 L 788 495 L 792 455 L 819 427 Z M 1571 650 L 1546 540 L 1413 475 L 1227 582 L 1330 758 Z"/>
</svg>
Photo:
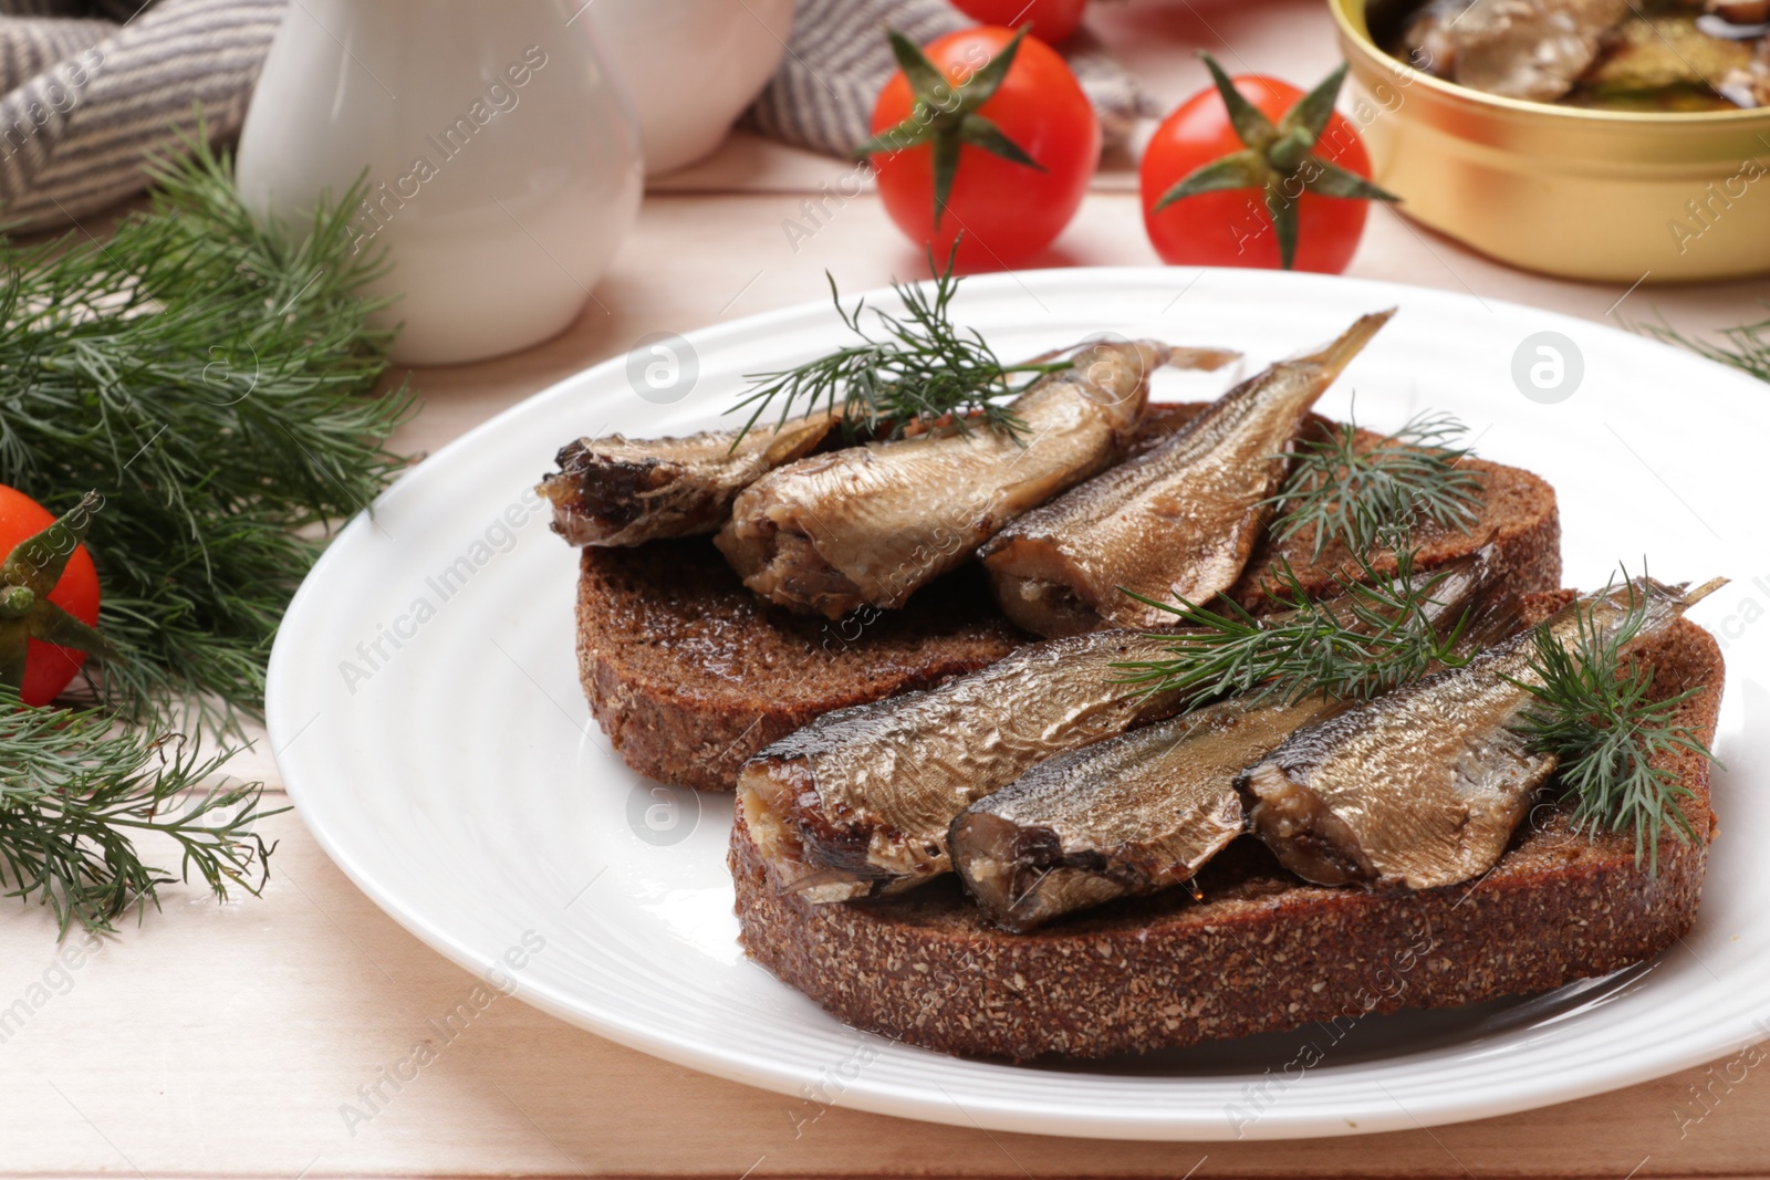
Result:
<svg viewBox="0 0 1770 1180">
<path fill-rule="evenodd" d="M 954 257 L 958 246 L 954 244 Z M 750 391 L 738 400 L 733 412 L 745 407 L 749 421 L 738 432 L 742 439 L 779 402 L 786 421 L 795 407 L 802 414 L 818 405 L 832 414 L 841 410 L 843 428 L 850 437 L 903 437 L 912 425 L 933 425 L 943 419 L 961 430 L 970 430 L 970 414 L 982 418 L 991 430 L 1020 437 L 1025 423 L 998 398 L 1021 393 L 1027 382 L 1014 377 L 1037 379 L 1069 368 L 1069 361 L 1032 361 L 1002 364 L 977 331 L 966 331 L 952 322 L 952 295 L 959 278 L 952 272 L 952 257 L 943 271 L 935 274 L 931 288 L 913 283 L 892 283 L 903 299 L 901 317 L 873 310 L 878 329 L 869 333 L 862 324 L 866 301 L 853 308 L 843 306 L 835 278 L 825 271 L 835 313 L 860 343 L 844 345 L 795 368 L 772 373 L 750 373 Z M 929 255 L 929 269 L 933 269 Z M 733 444 L 736 446 L 736 444 Z"/>
</svg>

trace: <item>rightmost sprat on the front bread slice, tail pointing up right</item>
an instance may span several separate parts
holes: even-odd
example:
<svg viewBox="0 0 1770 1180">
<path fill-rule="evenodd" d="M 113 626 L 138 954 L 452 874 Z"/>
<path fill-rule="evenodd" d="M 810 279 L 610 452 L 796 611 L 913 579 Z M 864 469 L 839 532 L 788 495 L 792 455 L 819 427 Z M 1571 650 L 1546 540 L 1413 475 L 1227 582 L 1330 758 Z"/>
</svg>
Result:
<svg viewBox="0 0 1770 1180">
<path fill-rule="evenodd" d="M 1402 883 L 1423 890 L 1487 872 L 1504 853 L 1554 754 L 1517 732 L 1542 685 L 1542 630 L 1575 651 L 1639 623 L 1662 633 L 1717 584 L 1685 591 L 1637 579 L 1577 600 L 1458 669 L 1435 672 L 1338 716 L 1304 725 L 1250 766 L 1237 787 L 1251 830 L 1317 885 Z"/>
</svg>

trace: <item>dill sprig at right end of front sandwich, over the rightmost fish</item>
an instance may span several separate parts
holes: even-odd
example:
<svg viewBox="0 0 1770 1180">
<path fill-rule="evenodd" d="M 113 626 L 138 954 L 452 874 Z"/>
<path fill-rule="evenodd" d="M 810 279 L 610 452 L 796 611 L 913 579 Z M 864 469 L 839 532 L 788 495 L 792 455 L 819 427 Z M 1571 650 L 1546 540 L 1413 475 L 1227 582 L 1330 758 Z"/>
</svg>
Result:
<svg viewBox="0 0 1770 1180">
<path fill-rule="evenodd" d="M 1628 594 L 1628 610 L 1616 628 L 1600 626 L 1588 605 L 1575 607 L 1579 630 L 1572 644 L 1536 630 L 1529 667 L 1542 683 L 1513 681 L 1536 699 L 1515 729 L 1533 748 L 1558 757 L 1561 789 L 1574 801 L 1575 831 L 1632 831 L 1635 863 L 1648 860 L 1658 870 L 1662 833 L 1669 830 L 1678 840 L 1692 840 L 1696 833 L 1680 807 L 1692 791 L 1655 759 L 1678 750 L 1708 761 L 1715 755 L 1671 720 L 1703 686 L 1653 699 L 1653 667 L 1628 658 L 1627 647 L 1648 614 L 1646 594 L 1634 584 Z"/>
</svg>

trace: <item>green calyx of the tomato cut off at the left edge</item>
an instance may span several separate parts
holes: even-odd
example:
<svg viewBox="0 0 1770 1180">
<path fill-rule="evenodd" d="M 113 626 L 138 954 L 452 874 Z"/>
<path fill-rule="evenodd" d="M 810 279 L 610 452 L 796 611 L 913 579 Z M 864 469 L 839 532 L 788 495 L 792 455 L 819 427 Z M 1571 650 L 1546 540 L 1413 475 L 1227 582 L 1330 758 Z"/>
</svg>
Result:
<svg viewBox="0 0 1770 1180">
<path fill-rule="evenodd" d="M 34 639 L 106 660 L 117 658 L 108 639 L 50 601 L 67 559 L 80 548 L 92 515 L 103 502 L 97 492 L 87 492 L 55 524 L 19 541 L 5 563 L 0 563 L 0 686 L 14 692 L 23 688 Z"/>
</svg>

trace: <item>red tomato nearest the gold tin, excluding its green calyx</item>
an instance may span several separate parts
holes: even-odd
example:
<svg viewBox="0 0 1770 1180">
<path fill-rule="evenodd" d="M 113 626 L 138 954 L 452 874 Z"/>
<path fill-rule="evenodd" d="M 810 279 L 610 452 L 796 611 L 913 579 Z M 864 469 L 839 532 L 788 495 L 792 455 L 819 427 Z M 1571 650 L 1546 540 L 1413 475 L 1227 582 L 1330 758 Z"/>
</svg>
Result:
<svg viewBox="0 0 1770 1180">
<path fill-rule="evenodd" d="M 1303 97 L 1290 83 L 1260 74 L 1234 80 L 1250 103 L 1273 122 Z M 1228 124 L 1223 96 L 1207 87 L 1186 99 L 1156 129 L 1143 152 L 1143 225 L 1163 262 L 1211 267 L 1280 265 L 1278 237 L 1260 189 L 1227 189 L 1186 196 L 1161 212 L 1150 212 L 1163 193 L 1188 173 L 1214 159 L 1244 150 Z M 1315 156 L 1370 179 L 1370 156 L 1358 131 L 1340 113 L 1315 142 Z M 1365 232 L 1368 202 L 1303 193 L 1297 205 L 1297 257 L 1294 269 L 1338 274 L 1352 262 Z"/>
</svg>

